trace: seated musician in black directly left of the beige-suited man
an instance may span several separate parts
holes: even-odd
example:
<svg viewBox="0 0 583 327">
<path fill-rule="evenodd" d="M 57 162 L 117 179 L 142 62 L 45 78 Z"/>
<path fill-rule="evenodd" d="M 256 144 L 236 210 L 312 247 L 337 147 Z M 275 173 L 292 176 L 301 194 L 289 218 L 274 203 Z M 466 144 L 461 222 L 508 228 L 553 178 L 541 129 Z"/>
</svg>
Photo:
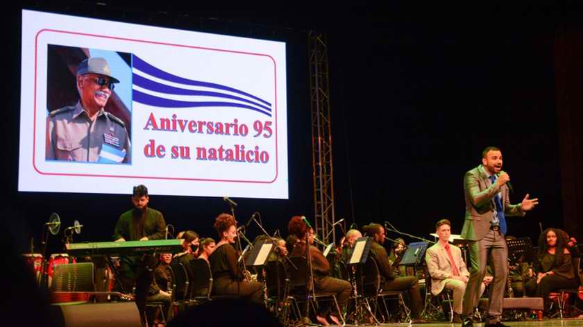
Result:
<svg viewBox="0 0 583 327">
<path fill-rule="evenodd" d="M 371 245 L 370 253 L 379 266 L 382 290 L 407 290 L 407 293 L 409 294 L 409 308 L 411 308 L 413 322 L 423 322 L 423 319 L 420 317 L 423 308 L 423 301 L 421 300 L 421 292 L 419 291 L 419 280 L 414 276 L 394 276 L 393 268 L 389 263 L 387 250 L 382 246 L 382 244 L 385 243 L 385 228 L 380 224 L 371 223 L 368 226 L 363 226 L 362 231 L 364 231 L 366 235 L 373 237 L 373 240 L 375 241 Z"/>
</svg>

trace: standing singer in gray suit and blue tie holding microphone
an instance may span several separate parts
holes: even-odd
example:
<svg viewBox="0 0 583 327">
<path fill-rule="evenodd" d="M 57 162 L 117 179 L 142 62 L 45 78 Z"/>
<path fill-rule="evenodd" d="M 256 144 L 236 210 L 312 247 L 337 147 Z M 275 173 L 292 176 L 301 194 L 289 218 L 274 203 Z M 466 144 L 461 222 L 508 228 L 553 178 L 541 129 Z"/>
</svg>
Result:
<svg viewBox="0 0 583 327">
<path fill-rule="evenodd" d="M 500 322 L 502 299 L 507 277 L 505 216 L 524 216 L 539 199 L 529 199 L 526 194 L 522 203 L 510 204 L 510 176 L 502 171 L 502 152 L 489 146 L 482 151 L 482 165 L 471 169 L 464 176 L 466 218 L 462 237 L 469 242 L 470 278 L 464 294 L 462 327 L 472 326 L 472 312 L 480 301 L 480 284 L 486 274 L 490 257 L 493 281 L 490 285 L 489 312 L 486 327 L 507 327 Z"/>
</svg>

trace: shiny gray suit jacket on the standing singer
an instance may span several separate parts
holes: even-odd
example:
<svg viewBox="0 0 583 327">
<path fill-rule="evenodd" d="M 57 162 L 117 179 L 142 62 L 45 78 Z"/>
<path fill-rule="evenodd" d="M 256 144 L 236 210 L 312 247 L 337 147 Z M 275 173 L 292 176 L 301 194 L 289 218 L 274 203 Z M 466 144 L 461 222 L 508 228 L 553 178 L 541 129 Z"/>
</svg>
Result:
<svg viewBox="0 0 583 327">
<path fill-rule="evenodd" d="M 498 187 L 498 183 L 492 185 L 489 183 L 482 165 L 468 171 L 464 176 L 466 219 L 462 228 L 462 237 L 466 240 L 479 241 L 488 233 L 493 212 L 496 210 L 494 196 L 498 192 L 502 193 L 505 217 L 525 215 L 520 204 L 510 204 L 507 185 Z"/>
</svg>

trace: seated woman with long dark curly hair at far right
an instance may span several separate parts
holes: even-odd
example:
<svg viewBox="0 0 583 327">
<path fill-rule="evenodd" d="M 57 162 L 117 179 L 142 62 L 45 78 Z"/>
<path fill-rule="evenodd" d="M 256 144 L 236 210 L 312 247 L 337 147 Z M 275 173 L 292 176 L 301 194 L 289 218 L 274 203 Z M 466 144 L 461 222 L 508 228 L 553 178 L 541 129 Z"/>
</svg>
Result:
<svg viewBox="0 0 583 327">
<path fill-rule="evenodd" d="M 550 292 L 562 288 L 577 288 L 578 285 L 571 252 L 559 233 L 555 228 L 543 230 L 539 236 L 539 252 L 534 267 L 536 277 L 525 284 L 528 296 L 543 298 L 545 315 L 548 315 L 550 309 Z"/>
</svg>

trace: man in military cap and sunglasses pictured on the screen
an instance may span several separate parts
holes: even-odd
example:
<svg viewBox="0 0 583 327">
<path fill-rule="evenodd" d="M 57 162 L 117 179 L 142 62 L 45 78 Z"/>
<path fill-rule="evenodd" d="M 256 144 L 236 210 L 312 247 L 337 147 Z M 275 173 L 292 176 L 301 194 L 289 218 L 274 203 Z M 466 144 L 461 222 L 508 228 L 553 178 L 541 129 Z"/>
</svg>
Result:
<svg viewBox="0 0 583 327">
<path fill-rule="evenodd" d="M 107 60 L 94 57 L 77 66 L 81 99 L 47 117 L 47 160 L 129 163 L 131 144 L 126 124 L 103 109 L 117 78 Z"/>
</svg>

